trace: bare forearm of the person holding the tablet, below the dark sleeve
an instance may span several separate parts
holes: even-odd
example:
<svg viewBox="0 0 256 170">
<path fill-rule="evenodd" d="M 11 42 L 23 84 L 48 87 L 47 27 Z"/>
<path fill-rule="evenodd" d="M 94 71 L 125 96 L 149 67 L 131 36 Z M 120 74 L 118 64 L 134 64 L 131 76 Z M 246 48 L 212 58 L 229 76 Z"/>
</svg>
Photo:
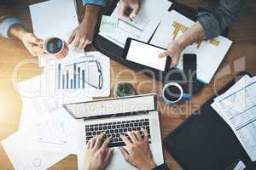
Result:
<svg viewBox="0 0 256 170">
<path fill-rule="evenodd" d="M 176 41 L 181 47 L 186 48 L 190 44 L 203 39 L 206 39 L 204 28 L 199 22 L 195 22 L 182 36 L 177 37 Z"/>
</svg>

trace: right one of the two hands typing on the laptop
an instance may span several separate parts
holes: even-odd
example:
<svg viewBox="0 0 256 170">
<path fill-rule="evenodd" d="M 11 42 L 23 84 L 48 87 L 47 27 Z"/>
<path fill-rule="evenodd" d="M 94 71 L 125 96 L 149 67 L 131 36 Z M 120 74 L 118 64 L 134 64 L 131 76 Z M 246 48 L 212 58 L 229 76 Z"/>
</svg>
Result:
<svg viewBox="0 0 256 170">
<path fill-rule="evenodd" d="M 129 132 L 128 136 L 131 141 L 125 137 L 121 136 L 123 141 L 127 146 L 127 150 L 123 147 L 119 147 L 125 161 L 137 167 L 139 170 L 148 170 L 156 167 L 154 163 L 153 156 L 148 144 L 148 133 L 143 129 L 144 138 L 138 132 Z"/>
</svg>

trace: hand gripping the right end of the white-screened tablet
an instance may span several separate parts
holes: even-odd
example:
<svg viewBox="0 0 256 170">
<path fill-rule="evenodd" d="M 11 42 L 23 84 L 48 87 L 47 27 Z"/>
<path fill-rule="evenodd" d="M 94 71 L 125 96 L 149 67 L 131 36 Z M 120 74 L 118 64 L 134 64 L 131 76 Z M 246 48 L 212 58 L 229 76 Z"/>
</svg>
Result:
<svg viewBox="0 0 256 170">
<path fill-rule="evenodd" d="M 172 57 L 171 67 L 174 67 L 177 65 L 177 63 L 180 59 L 180 55 L 183 52 L 184 48 L 185 47 L 183 47 L 183 45 L 181 45 L 181 43 L 174 40 L 172 42 L 169 42 L 167 50 L 165 52 L 159 54 L 159 58 L 164 58 L 167 56 Z"/>
</svg>

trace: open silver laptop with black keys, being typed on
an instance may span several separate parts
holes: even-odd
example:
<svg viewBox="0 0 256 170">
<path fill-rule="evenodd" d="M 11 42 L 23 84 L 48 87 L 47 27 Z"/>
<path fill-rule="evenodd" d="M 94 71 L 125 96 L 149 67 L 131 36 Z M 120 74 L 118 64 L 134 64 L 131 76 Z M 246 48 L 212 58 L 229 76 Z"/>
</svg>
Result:
<svg viewBox="0 0 256 170">
<path fill-rule="evenodd" d="M 78 145 L 79 170 L 84 168 L 85 145 L 92 137 L 105 132 L 106 137 L 112 136 L 108 147 L 125 147 L 120 135 L 128 131 L 140 131 L 142 127 L 148 130 L 149 145 L 155 163 L 157 165 L 164 163 L 156 94 L 101 99 L 63 106 L 81 122 Z M 116 148 L 107 169 L 129 170 L 136 168 L 126 163 Z"/>
</svg>

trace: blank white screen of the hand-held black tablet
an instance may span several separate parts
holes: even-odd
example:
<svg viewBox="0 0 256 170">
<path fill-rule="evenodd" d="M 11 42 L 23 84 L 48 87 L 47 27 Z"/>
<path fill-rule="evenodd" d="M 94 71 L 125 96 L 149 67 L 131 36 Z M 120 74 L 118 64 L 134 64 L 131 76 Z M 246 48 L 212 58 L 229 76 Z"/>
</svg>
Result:
<svg viewBox="0 0 256 170">
<path fill-rule="evenodd" d="M 158 55 L 163 51 L 165 51 L 165 49 L 131 40 L 126 59 L 160 71 L 165 71 L 166 57 L 162 59 L 158 57 Z"/>
</svg>

